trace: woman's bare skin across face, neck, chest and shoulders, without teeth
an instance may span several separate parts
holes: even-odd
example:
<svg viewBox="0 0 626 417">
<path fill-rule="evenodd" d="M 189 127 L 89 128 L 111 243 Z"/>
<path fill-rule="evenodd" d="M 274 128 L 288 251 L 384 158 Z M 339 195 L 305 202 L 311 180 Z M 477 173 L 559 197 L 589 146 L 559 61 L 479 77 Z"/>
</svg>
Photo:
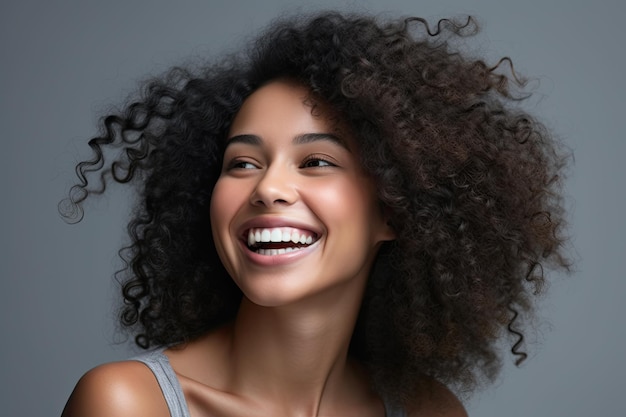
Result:
<svg viewBox="0 0 626 417">
<path fill-rule="evenodd" d="M 245 101 L 229 132 L 211 225 L 244 298 L 232 323 L 166 351 L 192 417 L 385 415 L 348 346 L 373 260 L 394 233 L 356 142 L 310 99 L 291 81 L 271 82 Z M 249 247 L 250 229 L 277 228 L 310 243 L 280 254 Z M 442 385 L 425 388 L 410 416 L 467 415 Z M 133 361 L 89 371 L 63 412 L 168 415 L 151 371 Z"/>
</svg>

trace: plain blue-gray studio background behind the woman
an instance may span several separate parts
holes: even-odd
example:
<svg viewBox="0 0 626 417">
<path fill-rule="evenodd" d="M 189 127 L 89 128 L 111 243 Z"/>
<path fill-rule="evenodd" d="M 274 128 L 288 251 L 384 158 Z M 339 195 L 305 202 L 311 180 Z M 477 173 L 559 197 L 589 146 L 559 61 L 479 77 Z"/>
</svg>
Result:
<svg viewBox="0 0 626 417">
<path fill-rule="evenodd" d="M 89 4 L 88 4 L 89 3 Z M 232 47 L 282 11 L 338 6 L 459 14 L 478 52 L 536 77 L 527 103 L 575 151 L 568 184 L 580 261 L 542 300 L 531 358 L 467 402 L 472 416 L 626 415 L 624 3 L 615 0 L 3 1 L 0 6 L 0 414 L 58 415 L 80 375 L 132 354 L 115 333 L 112 273 L 129 192 L 79 225 L 56 204 L 97 117 L 137 81 Z M 306 5 L 306 6 L 305 6 Z"/>
</svg>

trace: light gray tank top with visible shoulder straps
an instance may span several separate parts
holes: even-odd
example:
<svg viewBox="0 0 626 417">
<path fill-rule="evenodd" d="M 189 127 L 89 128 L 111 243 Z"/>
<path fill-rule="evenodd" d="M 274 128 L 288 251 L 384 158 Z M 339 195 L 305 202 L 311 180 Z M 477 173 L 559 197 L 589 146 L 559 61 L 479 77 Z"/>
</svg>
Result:
<svg viewBox="0 0 626 417">
<path fill-rule="evenodd" d="M 183 389 L 178 382 L 176 373 L 170 365 L 170 361 L 162 350 L 156 350 L 154 352 L 144 353 L 139 356 L 135 356 L 132 360 L 143 362 L 156 377 L 165 402 L 170 409 L 171 417 L 191 417 L 189 415 L 189 409 L 185 401 L 185 395 Z M 392 409 L 385 403 L 385 415 L 386 417 L 406 417 L 403 410 Z"/>
</svg>

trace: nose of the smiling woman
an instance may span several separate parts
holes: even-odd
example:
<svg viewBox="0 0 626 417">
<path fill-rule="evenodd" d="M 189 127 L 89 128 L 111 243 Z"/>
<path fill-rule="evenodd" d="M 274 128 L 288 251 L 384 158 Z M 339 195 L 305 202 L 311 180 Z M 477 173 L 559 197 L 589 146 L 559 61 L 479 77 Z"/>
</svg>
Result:
<svg viewBox="0 0 626 417">
<path fill-rule="evenodd" d="M 291 205 L 297 196 L 293 173 L 285 167 L 272 164 L 259 177 L 254 191 L 250 194 L 250 204 L 265 207 Z"/>
</svg>

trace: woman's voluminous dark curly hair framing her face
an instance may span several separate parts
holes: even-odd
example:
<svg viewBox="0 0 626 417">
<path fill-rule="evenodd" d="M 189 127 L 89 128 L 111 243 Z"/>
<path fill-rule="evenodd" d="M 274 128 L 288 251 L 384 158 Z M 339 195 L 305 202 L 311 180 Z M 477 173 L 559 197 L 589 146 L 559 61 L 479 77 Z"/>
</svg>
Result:
<svg viewBox="0 0 626 417">
<path fill-rule="evenodd" d="M 351 343 L 379 392 L 404 401 L 424 377 L 470 390 L 495 376 L 507 332 L 523 360 L 521 318 L 544 270 L 569 268 L 569 155 L 517 105 L 524 82 L 508 58 L 490 66 L 454 47 L 476 31 L 472 18 L 435 29 L 414 17 L 282 19 L 218 64 L 147 81 L 104 117 L 89 142 L 94 157 L 77 165 L 80 181 L 60 209 L 79 221 L 82 202 L 111 179 L 137 185 L 121 251 L 121 323 L 136 343 L 182 343 L 234 318 L 242 294 L 214 247 L 211 193 L 243 101 L 291 78 L 353 129 L 396 231 L 376 259 Z M 121 151 L 112 161 L 110 149 Z"/>
</svg>

